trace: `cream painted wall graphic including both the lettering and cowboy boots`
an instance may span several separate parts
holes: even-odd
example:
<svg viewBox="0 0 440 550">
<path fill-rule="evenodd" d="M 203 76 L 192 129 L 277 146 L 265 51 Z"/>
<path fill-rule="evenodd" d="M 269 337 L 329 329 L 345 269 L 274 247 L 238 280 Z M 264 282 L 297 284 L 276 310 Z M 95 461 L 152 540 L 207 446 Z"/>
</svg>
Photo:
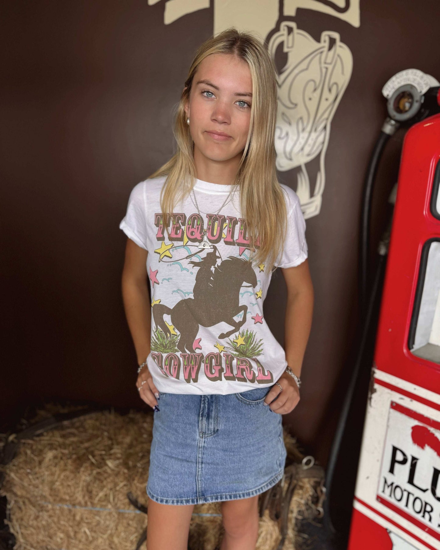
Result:
<svg viewBox="0 0 440 550">
<path fill-rule="evenodd" d="M 152 5 L 161 0 L 148 1 Z M 210 6 L 210 0 L 168 0 L 163 22 L 169 25 Z M 283 13 L 279 6 L 279 0 L 213 0 L 213 33 L 234 25 L 259 32 L 265 40 L 271 34 L 268 50 L 272 58 L 281 47 L 287 55 L 278 74 L 277 168 L 281 172 L 296 169 L 296 193 L 304 217 L 310 218 L 321 211 L 331 122 L 350 81 L 353 56 L 338 32 L 324 31 L 318 42 L 295 21 L 283 18 L 295 17 L 298 9 L 310 9 L 359 27 L 360 6 L 359 0 L 284 0 Z M 307 165 L 315 158 L 318 169 L 310 171 Z"/>
</svg>

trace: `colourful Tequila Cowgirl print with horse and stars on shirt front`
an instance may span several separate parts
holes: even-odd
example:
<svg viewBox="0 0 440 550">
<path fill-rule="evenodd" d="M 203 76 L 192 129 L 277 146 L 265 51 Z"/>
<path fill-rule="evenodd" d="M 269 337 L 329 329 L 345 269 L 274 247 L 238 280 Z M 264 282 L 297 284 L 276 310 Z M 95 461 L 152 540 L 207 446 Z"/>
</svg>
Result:
<svg viewBox="0 0 440 550">
<path fill-rule="evenodd" d="M 155 271 L 150 267 L 149 273 L 154 323 L 151 356 L 163 376 L 187 383 L 197 383 L 202 372 L 211 382 L 272 384 L 273 373 L 259 361 L 263 355 L 262 339 L 257 338 L 257 331 L 252 328 L 242 328 L 249 314 L 252 325 L 264 322 L 257 303 L 262 300 L 263 290 L 258 288 L 261 281 L 245 254 L 250 251 L 246 223 L 234 216 L 207 214 L 207 218 L 204 238 L 204 222 L 198 213 L 188 219 L 184 213 L 173 213 L 170 241 L 166 243 L 163 215 L 155 213 L 156 241 L 160 246 L 154 251 L 159 267 Z M 166 222 L 169 227 L 168 216 Z M 238 235 L 234 239 L 236 229 Z M 220 241 L 231 247 L 232 254 L 225 258 L 216 246 Z M 257 239 L 255 246 L 259 245 Z M 234 252 L 238 254 L 234 256 Z M 263 272 L 265 266 L 262 263 L 257 268 Z M 180 288 L 182 272 L 191 276 L 185 279 L 189 288 Z M 161 285 L 173 286 L 173 281 L 179 282 L 179 288 L 167 288 L 167 292 L 161 293 Z M 174 294 L 180 296 L 177 302 L 166 303 L 163 299 Z M 246 299 L 248 302 L 244 303 Z M 252 315 L 251 307 L 255 306 L 258 311 Z M 223 323 L 217 341 L 209 342 L 206 338 L 204 342 L 199 336 L 200 329 L 217 323 Z"/>
</svg>

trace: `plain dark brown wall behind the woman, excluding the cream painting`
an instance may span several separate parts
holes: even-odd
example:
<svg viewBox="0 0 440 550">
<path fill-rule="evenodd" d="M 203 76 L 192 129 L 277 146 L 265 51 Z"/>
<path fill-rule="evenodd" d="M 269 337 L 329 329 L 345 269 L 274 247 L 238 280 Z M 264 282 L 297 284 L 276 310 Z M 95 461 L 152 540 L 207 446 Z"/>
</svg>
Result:
<svg viewBox="0 0 440 550">
<path fill-rule="evenodd" d="M 339 32 L 354 62 L 332 122 L 321 212 L 307 219 L 315 312 L 301 401 L 283 419 L 322 464 L 354 354 L 360 199 L 386 117 L 381 89 L 406 68 L 440 78 L 437 2 L 416 13 L 412 6 L 362 1 L 359 28 L 311 10 L 295 18 L 316 40 Z M 130 190 L 173 152 L 171 109 L 213 17 L 210 8 L 164 25 L 163 9 L 146 0 L 3 5 L 4 418 L 52 397 L 144 405 L 120 294 L 126 238 L 118 226 Z M 379 166 L 372 255 L 402 139 L 399 131 Z M 279 177 L 295 189 L 293 174 Z M 277 272 L 265 315 L 281 343 L 284 296 Z"/>
</svg>

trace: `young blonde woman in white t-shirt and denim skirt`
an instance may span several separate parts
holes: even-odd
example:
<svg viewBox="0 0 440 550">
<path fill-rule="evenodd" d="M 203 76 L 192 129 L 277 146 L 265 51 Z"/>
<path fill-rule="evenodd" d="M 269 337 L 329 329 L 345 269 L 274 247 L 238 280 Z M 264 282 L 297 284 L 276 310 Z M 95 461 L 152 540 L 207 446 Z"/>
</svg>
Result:
<svg viewBox="0 0 440 550">
<path fill-rule="evenodd" d="M 283 476 L 313 289 L 299 199 L 277 180 L 276 113 L 263 43 L 234 28 L 207 40 L 178 105 L 177 153 L 134 187 L 120 223 L 136 386 L 155 409 L 148 550 L 186 549 L 207 502 L 222 503 L 221 550 L 254 549 L 258 496 Z M 263 315 L 276 267 L 285 349 Z"/>
</svg>

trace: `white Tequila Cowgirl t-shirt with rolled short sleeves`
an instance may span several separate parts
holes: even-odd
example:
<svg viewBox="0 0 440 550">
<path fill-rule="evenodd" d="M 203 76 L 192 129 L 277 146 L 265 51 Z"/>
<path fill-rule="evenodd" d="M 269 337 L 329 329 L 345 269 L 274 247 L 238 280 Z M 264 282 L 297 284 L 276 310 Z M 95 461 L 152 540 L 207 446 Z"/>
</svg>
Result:
<svg viewBox="0 0 440 550">
<path fill-rule="evenodd" d="M 201 216 L 192 191 L 183 204 L 174 206 L 172 216 L 162 216 L 160 193 L 165 180 L 163 176 L 136 185 L 119 225 L 148 251 L 151 353 L 147 367 L 153 382 L 160 392 L 195 394 L 272 386 L 287 361 L 263 316 L 271 273 L 264 263 L 244 261 L 250 250 L 239 189 L 216 215 L 232 186 L 197 179 L 194 193 Z M 305 220 L 298 195 L 281 186 L 289 218 L 284 251 L 276 266 L 292 267 L 307 258 Z"/>
</svg>

